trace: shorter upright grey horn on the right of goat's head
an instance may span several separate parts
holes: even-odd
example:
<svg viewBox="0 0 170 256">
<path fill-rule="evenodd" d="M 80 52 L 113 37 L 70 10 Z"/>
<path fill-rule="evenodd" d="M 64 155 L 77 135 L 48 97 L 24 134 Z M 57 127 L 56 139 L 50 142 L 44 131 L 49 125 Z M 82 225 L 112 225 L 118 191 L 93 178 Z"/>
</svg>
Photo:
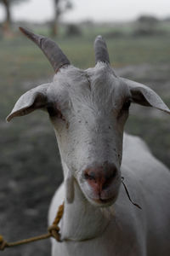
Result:
<svg viewBox="0 0 170 256">
<path fill-rule="evenodd" d="M 105 44 L 105 39 L 102 38 L 101 36 L 98 36 L 97 38 L 95 38 L 94 53 L 95 53 L 96 64 L 98 61 L 110 63 L 107 45 Z"/>
</svg>

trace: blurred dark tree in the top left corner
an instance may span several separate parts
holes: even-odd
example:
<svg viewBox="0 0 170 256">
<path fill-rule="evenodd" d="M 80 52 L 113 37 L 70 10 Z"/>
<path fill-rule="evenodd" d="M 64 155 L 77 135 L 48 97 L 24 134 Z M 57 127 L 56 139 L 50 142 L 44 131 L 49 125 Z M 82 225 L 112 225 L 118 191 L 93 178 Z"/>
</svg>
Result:
<svg viewBox="0 0 170 256">
<path fill-rule="evenodd" d="M 0 3 L 3 4 L 3 7 L 5 9 L 5 20 L 3 23 L 3 30 L 4 32 L 10 32 L 11 31 L 11 24 L 12 24 L 12 17 L 11 17 L 11 7 L 15 3 L 23 3 L 27 0 L 0 0 Z"/>
</svg>

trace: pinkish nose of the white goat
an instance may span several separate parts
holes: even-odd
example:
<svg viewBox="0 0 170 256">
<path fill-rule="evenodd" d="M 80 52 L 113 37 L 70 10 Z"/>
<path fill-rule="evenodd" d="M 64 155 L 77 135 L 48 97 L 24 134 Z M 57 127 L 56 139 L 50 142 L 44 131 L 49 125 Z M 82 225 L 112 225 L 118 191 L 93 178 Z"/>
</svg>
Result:
<svg viewBox="0 0 170 256">
<path fill-rule="evenodd" d="M 116 177 L 117 169 L 114 164 L 106 163 L 103 166 L 88 168 L 84 172 L 84 177 L 88 184 L 99 194 L 103 189 L 107 189 Z"/>
</svg>

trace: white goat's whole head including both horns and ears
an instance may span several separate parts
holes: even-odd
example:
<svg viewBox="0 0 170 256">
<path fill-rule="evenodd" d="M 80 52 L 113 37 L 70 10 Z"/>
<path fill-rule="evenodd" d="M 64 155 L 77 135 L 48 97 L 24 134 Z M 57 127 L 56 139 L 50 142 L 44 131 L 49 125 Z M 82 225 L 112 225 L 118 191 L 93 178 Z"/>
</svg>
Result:
<svg viewBox="0 0 170 256">
<path fill-rule="evenodd" d="M 74 180 L 88 201 L 99 207 L 110 205 L 121 183 L 122 136 L 130 102 L 167 113 L 169 108 L 144 84 L 116 77 L 103 38 L 94 43 L 96 66 L 82 71 L 72 67 L 50 39 L 21 31 L 42 49 L 56 74 L 52 84 L 21 96 L 7 120 L 47 110 L 59 143 L 65 187 L 70 188 L 68 201 L 73 198 Z"/>
</svg>

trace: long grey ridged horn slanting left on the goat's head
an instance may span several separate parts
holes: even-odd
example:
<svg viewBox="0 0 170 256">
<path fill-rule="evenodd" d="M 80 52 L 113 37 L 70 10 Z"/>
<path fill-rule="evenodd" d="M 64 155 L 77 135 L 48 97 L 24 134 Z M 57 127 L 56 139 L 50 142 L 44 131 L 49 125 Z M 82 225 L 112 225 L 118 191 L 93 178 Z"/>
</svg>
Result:
<svg viewBox="0 0 170 256">
<path fill-rule="evenodd" d="M 42 49 L 42 52 L 44 55 L 46 55 L 52 67 L 54 67 L 55 73 L 58 72 L 60 67 L 71 64 L 62 50 L 57 44 L 55 44 L 53 40 L 40 35 L 36 35 L 23 27 L 20 27 L 20 31 L 26 35 L 27 38 L 30 38 L 35 44 L 37 44 L 40 49 Z"/>
</svg>

